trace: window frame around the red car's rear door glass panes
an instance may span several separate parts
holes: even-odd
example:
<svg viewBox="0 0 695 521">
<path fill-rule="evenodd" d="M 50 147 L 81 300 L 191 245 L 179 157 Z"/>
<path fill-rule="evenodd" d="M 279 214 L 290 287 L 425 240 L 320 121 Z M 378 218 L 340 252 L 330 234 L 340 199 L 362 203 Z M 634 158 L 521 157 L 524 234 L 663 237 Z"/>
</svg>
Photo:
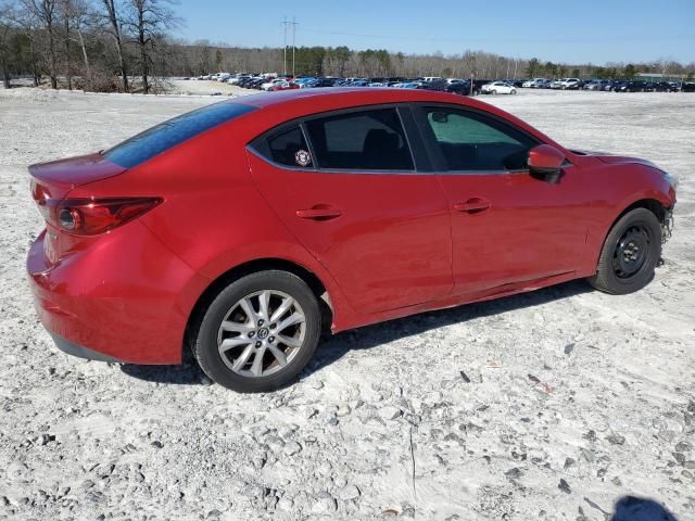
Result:
<svg viewBox="0 0 695 521">
<path fill-rule="evenodd" d="M 308 131 L 305 126 L 306 122 L 311 122 L 314 119 L 323 119 L 325 117 L 340 116 L 343 114 L 372 112 L 372 111 L 380 111 L 384 109 L 395 110 L 399 120 L 401 122 L 403 136 L 405 137 L 405 144 L 408 148 L 410 162 L 413 163 L 413 169 L 389 170 L 389 169 L 356 169 L 356 168 L 325 168 L 325 167 L 323 168 L 320 166 L 319 161 L 314 151 L 314 144 L 312 143 L 312 140 L 308 136 Z M 409 110 L 410 110 L 409 102 L 399 102 L 399 103 L 375 103 L 371 105 L 357 105 L 357 106 L 349 106 L 349 107 L 331 110 L 331 111 L 317 112 L 314 114 L 295 117 L 294 119 L 290 119 L 288 122 L 281 123 L 280 125 L 277 125 L 264 131 L 263 134 L 253 138 L 249 143 L 247 143 L 247 149 L 253 152 L 256 156 L 258 156 L 263 161 L 271 164 L 276 168 L 293 170 L 293 171 L 311 171 L 315 174 L 321 173 L 321 174 L 352 174 L 352 175 L 382 175 L 382 176 L 383 175 L 417 176 L 417 175 L 424 175 L 424 174 L 432 174 L 433 171 L 428 168 L 429 164 L 431 163 L 429 161 L 429 156 L 428 155 L 426 155 L 425 157 L 418 156 L 418 153 L 422 154 L 422 153 L 426 153 L 427 151 L 425 150 L 424 143 L 421 142 L 419 132 L 417 135 L 413 134 L 413 131 L 415 130 L 415 127 L 417 126 L 417 123 L 415 122 L 415 117 L 413 116 L 412 113 L 406 114 L 405 117 L 402 114 L 402 111 L 409 111 Z M 408 115 L 410 116 L 412 120 L 408 120 Z M 304 135 L 304 140 L 306 141 L 306 144 L 309 149 L 309 153 L 312 154 L 311 168 L 281 165 L 279 163 L 274 162 L 270 157 L 264 154 L 264 149 L 266 152 L 269 151 L 268 144 L 267 144 L 268 138 L 298 125 L 302 129 L 302 132 Z M 414 141 L 416 142 L 415 144 L 414 144 Z M 419 149 L 418 153 L 416 153 L 416 150 L 415 150 L 416 148 Z"/>
</svg>

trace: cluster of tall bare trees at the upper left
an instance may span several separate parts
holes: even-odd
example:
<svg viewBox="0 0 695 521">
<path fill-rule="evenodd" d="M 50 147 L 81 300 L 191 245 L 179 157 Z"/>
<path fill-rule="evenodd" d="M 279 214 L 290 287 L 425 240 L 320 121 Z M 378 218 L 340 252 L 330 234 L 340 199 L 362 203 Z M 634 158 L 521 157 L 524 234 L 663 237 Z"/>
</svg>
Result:
<svg viewBox="0 0 695 521">
<path fill-rule="evenodd" d="M 159 49 L 180 24 L 172 0 L 0 0 L 0 74 L 97 91 L 155 87 Z"/>
</svg>

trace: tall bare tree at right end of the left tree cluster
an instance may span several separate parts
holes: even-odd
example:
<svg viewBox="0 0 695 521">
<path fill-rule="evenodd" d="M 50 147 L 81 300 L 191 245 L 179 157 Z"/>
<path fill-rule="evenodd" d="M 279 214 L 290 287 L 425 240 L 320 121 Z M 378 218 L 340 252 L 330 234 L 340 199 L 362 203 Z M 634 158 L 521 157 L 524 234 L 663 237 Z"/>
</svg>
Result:
<svg viewBox="0 0 695 521">
<path fill-rule="evenodd" d="M 135 35 L 139 51 L 142 90 L 150 92 L 150 69 L 153 63 L 151 53 L 157 38 L 167 29 L 179 24 L 179 18 L 170 9 L 170 0 L 128 0 L 129 16 L 127 24 Z"/>
</svg>

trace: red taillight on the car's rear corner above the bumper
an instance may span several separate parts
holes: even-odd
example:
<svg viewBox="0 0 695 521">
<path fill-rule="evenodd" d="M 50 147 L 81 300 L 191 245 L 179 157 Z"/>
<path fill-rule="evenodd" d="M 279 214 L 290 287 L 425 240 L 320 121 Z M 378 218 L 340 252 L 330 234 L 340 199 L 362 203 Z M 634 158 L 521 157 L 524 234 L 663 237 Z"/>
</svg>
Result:
<svg viewBox="0 0 695 521">
<path fill-rule="evenodd" d="M 140 217 L 162 200 L 160 198 L 65 199 L 37 201 L 51 225 L 66 233 L 96 236 Z"/>
</svg>

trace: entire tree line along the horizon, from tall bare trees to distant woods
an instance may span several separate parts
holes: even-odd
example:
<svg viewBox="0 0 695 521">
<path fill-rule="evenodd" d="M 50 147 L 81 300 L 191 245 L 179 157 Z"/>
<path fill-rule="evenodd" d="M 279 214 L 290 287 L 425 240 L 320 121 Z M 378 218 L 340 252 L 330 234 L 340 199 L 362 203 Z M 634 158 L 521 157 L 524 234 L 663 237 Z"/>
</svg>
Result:
<svg viewBox="0 0 695 521">
<path fill-rule="evenodd" d="M 182 25 L 174 0 L 0 0 L 0 75 L 35 85 L 93 91 L 152 92 L 162 78 L 214 72 L 317 76 L 442 76 L 500 79 L 631 79 L 639 72 L 692 78 L 695 63 L 558 64 L 484 51 L 404 54 L 338 47 L 240 48 L 173 35 Z M 287 52 L 286 52 L 287 51 Z M 287 60 L 286 60 L 287 55 Z"/>
</svg>

